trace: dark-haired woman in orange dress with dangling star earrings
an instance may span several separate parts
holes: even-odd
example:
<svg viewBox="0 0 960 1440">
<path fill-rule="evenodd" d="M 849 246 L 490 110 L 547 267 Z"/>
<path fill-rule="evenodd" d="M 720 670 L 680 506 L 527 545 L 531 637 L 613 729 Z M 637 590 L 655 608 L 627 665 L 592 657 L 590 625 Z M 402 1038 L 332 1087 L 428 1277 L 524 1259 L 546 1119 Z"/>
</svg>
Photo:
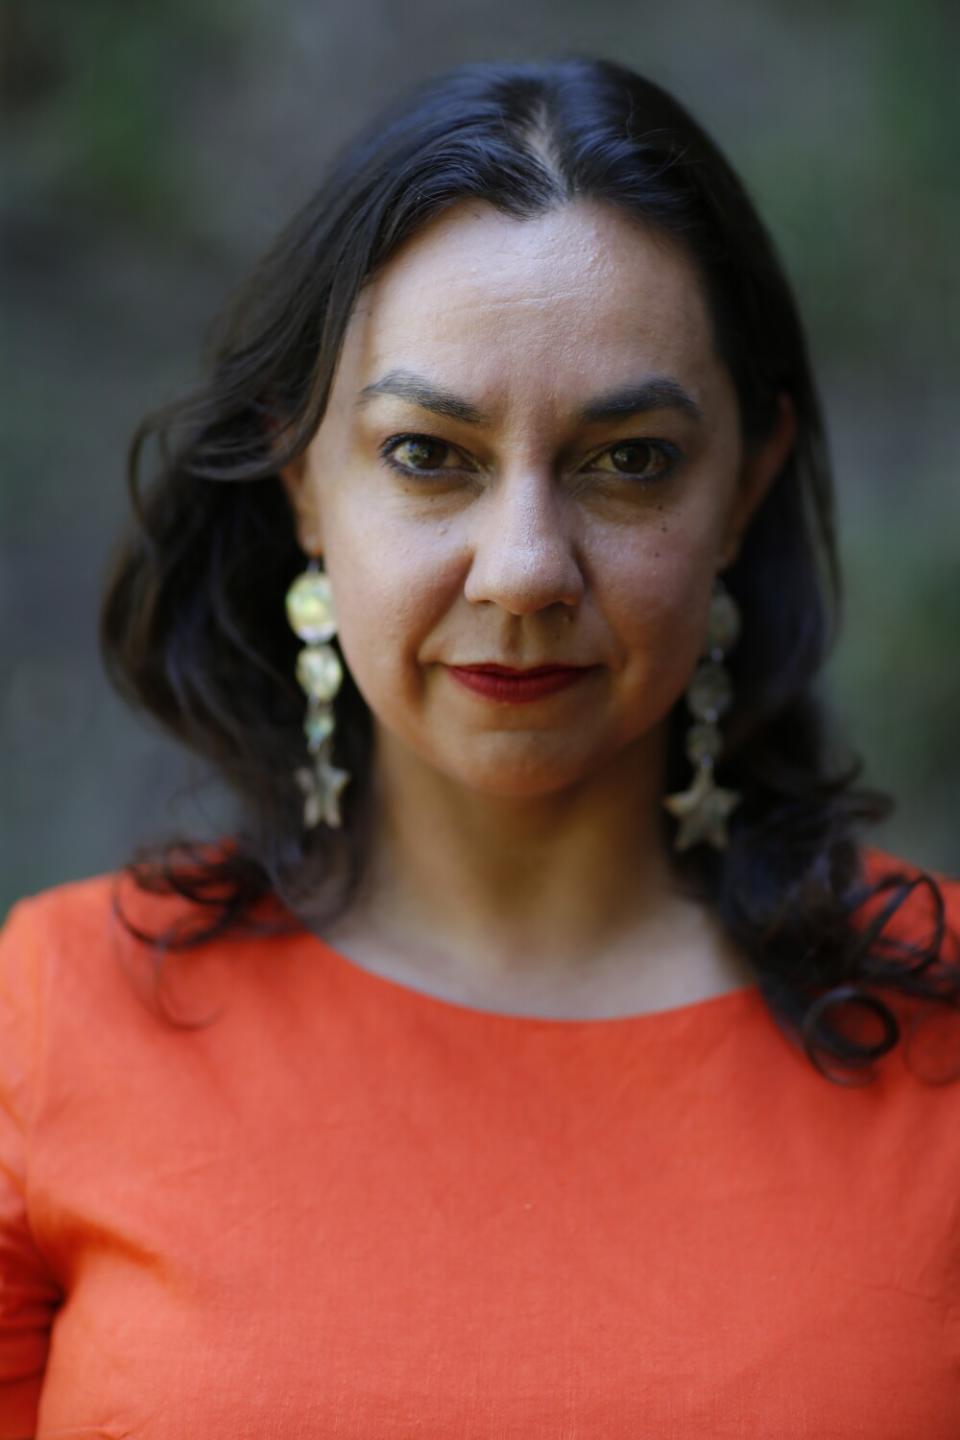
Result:
<svg viewBox="0 0 960 1440">
<path fill-rule="evenodd" d="M 9 922 L 0 1436 L 956 1434 L 959 887 L 712 143 L 432 81 L 151 433 L 107 661 L 242 815 Z"/>
</svg>

